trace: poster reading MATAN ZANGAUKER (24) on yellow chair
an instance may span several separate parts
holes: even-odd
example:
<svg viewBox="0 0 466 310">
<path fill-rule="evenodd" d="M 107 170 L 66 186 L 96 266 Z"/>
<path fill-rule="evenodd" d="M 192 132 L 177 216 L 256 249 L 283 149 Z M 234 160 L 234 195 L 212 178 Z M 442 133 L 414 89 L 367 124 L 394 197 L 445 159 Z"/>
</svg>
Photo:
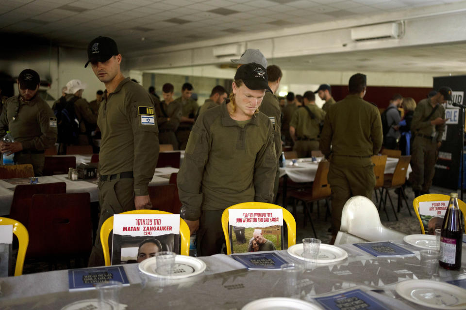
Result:
<svg viewBox="0 0 466 310">
<path fill-rule="evenodd" d="M 116 214 L 112 265 L 141 263 L 161 251 L 180 254 L 179 214 Z"/>
</svg>

